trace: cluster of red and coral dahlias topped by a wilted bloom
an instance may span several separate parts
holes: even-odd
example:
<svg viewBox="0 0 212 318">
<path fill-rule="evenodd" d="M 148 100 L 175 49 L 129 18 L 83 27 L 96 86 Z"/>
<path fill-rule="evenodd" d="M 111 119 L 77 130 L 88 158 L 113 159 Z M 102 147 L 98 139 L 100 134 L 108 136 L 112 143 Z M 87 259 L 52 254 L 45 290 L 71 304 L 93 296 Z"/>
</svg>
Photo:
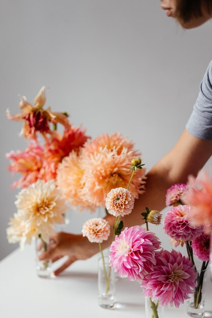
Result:
<svg viewBox="0 0 212 318">
<path fill-rule="evenodd" d="M 50 107 L 43 109 L 46 102 L 45 90 L 46 87 L 43 86 L 39 91 L 34 107 L 27 102 L 25 96 L 21 96 L 21 113 L 11 116 L 7 112 L 8 119 L 23 121 L 21 135 L 30 140 L 24 151 L 11 151 L 7 154 L 11 160 L 9 171 L 22 175 L 12 187 L 25 188 L 38 179 L 45 182 L 56 179 L 58 164 L 70 152 L 78 154 L 88 139 L 84 130 L 71 125 L 67 113 L 52 112 Z M 62 135 L 56 131 L 57 123 L 64 126 Z M 39 134 L 44 139 L 43 144 L 39 141 Z"/>
</svg>

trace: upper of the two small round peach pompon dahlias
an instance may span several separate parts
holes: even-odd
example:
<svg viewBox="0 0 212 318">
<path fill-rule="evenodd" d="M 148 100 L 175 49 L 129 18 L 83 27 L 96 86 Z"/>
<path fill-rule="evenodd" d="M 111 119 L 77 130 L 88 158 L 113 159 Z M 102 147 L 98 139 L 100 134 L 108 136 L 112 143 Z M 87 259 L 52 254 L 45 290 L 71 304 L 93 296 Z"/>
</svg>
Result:
<svg viewBox="0 0 212 318">
<path fill-rule="evenodd" d="M 114 216 L 130 214 L 134 207 L 134 198 L 126 188 L 112 189 L 106 197 L 106 209 Z"/>
</svg>

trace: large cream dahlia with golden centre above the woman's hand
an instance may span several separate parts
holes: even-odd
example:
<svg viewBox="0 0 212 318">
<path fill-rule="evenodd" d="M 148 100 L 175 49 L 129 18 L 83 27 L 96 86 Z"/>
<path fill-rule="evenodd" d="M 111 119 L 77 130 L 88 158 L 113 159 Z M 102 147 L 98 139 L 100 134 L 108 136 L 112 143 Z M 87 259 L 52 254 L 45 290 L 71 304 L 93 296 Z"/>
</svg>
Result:
<svg viewBox="0 0 212 318">
<path fill-rule="evenodd" d="M 65 222 L 63 214 L 67 207 L 54 180 L 38 180 L 22 189 L 15 205 L 24 224 L 34 228 L 35 237 L 41 234 L 45 242 L 49 241 L 54 225 Z"/>
</svg>

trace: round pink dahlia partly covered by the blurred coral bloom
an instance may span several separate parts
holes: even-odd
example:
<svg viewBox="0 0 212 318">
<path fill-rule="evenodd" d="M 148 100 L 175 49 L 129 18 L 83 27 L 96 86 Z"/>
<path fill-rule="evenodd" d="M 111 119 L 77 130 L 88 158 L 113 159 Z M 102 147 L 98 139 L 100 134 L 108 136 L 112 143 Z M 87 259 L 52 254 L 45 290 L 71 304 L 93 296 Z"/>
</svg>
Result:
<svg viewBox="0 0 212 318">
<path fill-rule="evenodd" d="M 192 226 L 187 214 L 190 212 L 189 205 L 173 207 L 164 217 L 164 231 L 176 241 L 191 241 L 202 232 L 202 227 Z"/>
</svg>

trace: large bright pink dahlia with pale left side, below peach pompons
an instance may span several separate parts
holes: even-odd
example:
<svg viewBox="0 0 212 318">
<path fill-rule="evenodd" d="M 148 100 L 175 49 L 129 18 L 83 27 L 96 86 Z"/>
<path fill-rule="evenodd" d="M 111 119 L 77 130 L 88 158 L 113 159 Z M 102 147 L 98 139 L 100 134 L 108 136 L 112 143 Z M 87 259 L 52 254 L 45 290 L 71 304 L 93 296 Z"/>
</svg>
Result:
<svg viewBox="0 0 212 318">
<path fill-rule="evenodd" d="M 125 228 L 110 246 L 110 266 L 120 277 L 143 279 L 156 265 L 158 237 L 140 226 Z"/>
</svg>

